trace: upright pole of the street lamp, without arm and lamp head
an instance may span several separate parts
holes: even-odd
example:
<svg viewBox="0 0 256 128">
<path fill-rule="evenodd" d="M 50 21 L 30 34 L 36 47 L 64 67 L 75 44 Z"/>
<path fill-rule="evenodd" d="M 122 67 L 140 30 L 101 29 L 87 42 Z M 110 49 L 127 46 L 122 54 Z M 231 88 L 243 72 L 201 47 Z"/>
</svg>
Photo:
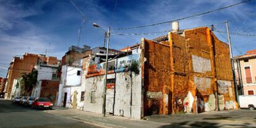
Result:
<svg viewBox="0 0 256 128">
<path fill-rule="evenodd" d="M 106 116 L 106 85 L 108 81 L 108 49 L 109 49 L 109 36 L 110 36 L 110 26 L 108 28 L 108 33 L 106 33 L 107 40 L 107 51 L 106 51 L 106 73 L 105 73 L 105 86 L 104 86 L 104 96 L 103 96 L 103 116 Z"/>
</svg>

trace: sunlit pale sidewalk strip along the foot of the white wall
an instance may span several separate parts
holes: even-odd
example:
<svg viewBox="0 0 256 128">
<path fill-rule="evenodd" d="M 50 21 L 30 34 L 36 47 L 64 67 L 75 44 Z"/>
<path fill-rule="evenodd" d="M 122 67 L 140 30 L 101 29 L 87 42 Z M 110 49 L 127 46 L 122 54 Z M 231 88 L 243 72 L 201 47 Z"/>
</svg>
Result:
<svg viewBox="0 0 256 128">
<path fill-rule="evenodd" d="M 120 116 L 106 115 L 90 113 L 86 111 L 76 109 L 56 109 L 46 110 L 46 113 L 54 114 L 56 116 L 64 116 L 66 118 L 79 120 L 82 122 L 94 124 L 99 127 L 161 127 L 169 125 L 168 123 L 144 121 L 141 119 L 125 118 Z"/>
</svg>

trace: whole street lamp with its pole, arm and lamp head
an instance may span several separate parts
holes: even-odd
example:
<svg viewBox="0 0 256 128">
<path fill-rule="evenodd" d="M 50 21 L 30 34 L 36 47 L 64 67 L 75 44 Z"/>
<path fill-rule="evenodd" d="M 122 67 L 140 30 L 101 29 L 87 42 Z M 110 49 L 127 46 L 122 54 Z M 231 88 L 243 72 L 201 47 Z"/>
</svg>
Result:
<svg viewBox="0 0 256 128">
<path fill-rule="evenodd" d="M 96 23 L 93 23 L 93 26 L 95 26 L 96 28 L 100 28 L 101 30 L 105 31 L 103 28 L 101 28 L 101 26 L 97 25 Z M 107 42 L 107 51 L 106 51 L 106 72 L 105 72 L 105 85 L 104 85 L 104 96 L 103 96 L 103 116 L 106 116 L 105 111 L 106 111 L 106 84 L 107 84 L 107 80 L 108 80 L 108 49 L 109 49 L 109 36 L 110 36 L 110 26 L 108 28 L 108 32 L 105 31 L 105 37 L 108 38 L 108 42 Z M 104 46 L 105 47 L 105 46 Z"/>
</svg>

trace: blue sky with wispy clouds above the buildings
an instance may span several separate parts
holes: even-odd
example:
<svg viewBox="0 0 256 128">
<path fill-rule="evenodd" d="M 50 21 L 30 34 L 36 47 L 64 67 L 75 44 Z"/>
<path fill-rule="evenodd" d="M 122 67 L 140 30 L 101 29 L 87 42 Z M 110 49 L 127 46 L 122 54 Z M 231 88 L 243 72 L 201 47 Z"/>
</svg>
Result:
<svg viewBox="0 0 256 128">
<path fill-rule="evenodd" d="M 80 46 L 83 44 L 103 46 L 104 32 L 93 28 L 95 22 L 107 30 L 126 26 L 147 25 L 186 17 L 199 12 L 228 6 L 241 0 L 73 0 L 86 15 L 83 25 Z M 211 14 L 180 21 L 180 28 L 193 28 L 229 21 L 231 32 L 256 33 L 256 2 L 220 10 Z M 77 44 L 77 31 L 82 17 L 69 0 L 0 0 L 0 77 L 6 76 L 4 66 L 9 66 L 12 57 L 25 52 L 56 56 L 59 59 L 68 47 Z M 88 20 L 91 21 L 88 22 Z M 224 24 L 216 25 L 224 31 Z M 135 30 L 112 31 L 113 33 L 151 33 L 171 29 L 168 24 Z M 110 47 L 122 49 L 140 41 L 141 38 L 153 39 L 167 33 L 150 36 L 111 36 Z M 216 33 L 219 39 L 226 42 L 226 34 Z M 237 36 L 231 34 L 234 55 L 238 50 L 256 49 L 255 36 Z M 238 50 L 237 50 L 238 49 Z"/>
</svg>

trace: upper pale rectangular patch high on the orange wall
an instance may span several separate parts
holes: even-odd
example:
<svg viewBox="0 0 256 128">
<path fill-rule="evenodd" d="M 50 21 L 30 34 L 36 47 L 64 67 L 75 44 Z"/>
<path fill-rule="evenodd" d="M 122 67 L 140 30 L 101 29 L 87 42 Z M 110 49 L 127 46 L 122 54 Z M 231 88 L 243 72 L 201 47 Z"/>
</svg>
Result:
<svg viewBox="0 0 256 128">
<path fill-rule="evenodd" d="M 211 71 L 211 61 L 207 58 L 192 55 L 193 70 L 197 73 L 206 73 Z"/>
</svg>

